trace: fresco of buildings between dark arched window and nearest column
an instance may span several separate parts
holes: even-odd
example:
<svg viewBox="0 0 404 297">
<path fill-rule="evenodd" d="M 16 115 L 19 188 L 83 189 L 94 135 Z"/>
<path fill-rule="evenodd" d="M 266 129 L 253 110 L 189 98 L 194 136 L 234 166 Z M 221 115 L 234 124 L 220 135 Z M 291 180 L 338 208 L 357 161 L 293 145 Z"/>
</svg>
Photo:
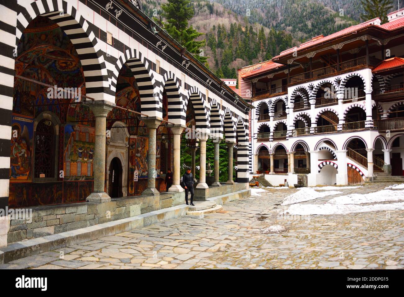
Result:
<svg viewBox="0 0 404 297">
<path fill-rule="evenodd" d="M 93 179 L 95 128 L 65 126 L 63 170 L 67 180 Z"/>
</svg>

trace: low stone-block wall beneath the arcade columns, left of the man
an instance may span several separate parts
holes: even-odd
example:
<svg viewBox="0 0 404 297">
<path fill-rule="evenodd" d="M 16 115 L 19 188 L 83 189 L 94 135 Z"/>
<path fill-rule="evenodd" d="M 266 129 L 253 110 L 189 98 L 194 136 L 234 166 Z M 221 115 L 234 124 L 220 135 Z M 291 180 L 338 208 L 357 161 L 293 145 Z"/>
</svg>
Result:
<svg viewBox="0 0 404 297">
<path fill-rule="evenodd" d="M 7 242 L 38 238 L 92 225 L 125 219 L 183 204 L 184 193 L 163 193 L 160 197 L 112 198 L 111 202 L 78 202 L 32 207 L 32 217 L 10 222 Z M 1 224 L 1 223 L 0 223 Z M 1 228 L 0 228 L 1 229 Z M 1 246 L 1 245 L 0 245 Z"/>
</svg>

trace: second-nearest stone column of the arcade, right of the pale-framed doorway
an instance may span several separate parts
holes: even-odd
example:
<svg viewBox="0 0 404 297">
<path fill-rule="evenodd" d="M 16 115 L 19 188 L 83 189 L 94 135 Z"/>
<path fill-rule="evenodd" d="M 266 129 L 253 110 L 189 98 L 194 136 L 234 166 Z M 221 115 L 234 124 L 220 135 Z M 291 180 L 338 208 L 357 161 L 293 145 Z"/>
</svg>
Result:
<svg viewBox="0 0 404 297">
<path fill-rule="evenodd" d="M 160 193 L 156 189 L 156 130 L 161 123 L 157 117 L 149 116 L 141 118 L 149 129 L 149 150 L 147 152 L 147 188 L 142 195 L 159 196 Z"/>
</svg>

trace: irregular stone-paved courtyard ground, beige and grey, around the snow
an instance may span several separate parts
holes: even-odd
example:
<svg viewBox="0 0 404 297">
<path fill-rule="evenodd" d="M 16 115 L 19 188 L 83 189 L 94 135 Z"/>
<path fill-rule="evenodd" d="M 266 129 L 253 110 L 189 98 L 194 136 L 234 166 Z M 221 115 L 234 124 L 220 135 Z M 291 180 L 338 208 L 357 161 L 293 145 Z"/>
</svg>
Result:
<svg viewBox="0 0 404 297">
<path fill-rule="evenodd" d="M 391 183 L 341 189 L 376 192 Z M 297 189 L 265 189 L 223 205 L 220 213 L 180 217 L 140 230 L 57 249 L 0 268 L 404 268 L 404 211 L 282 217 L 285 196 Z M 286 231 L 263 234 L 270 225 Z"/>
</svg>

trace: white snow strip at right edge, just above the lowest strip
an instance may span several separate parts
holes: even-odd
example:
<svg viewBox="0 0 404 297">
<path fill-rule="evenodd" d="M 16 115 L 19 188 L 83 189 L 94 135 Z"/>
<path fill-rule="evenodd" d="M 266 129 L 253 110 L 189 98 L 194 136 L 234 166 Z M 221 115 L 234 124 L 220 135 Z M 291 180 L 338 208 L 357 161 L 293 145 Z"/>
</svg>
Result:
<svg viewBox="0 0 404 297">
<path fill-rule="evenodd" d="M 363 204 L 383 201 L 404 200 L 404 190 L 380 190 L 368 194 L 353 193 L 345 196 L 332 198 L 328 203 L 332 204 Z"/>
</svg>

